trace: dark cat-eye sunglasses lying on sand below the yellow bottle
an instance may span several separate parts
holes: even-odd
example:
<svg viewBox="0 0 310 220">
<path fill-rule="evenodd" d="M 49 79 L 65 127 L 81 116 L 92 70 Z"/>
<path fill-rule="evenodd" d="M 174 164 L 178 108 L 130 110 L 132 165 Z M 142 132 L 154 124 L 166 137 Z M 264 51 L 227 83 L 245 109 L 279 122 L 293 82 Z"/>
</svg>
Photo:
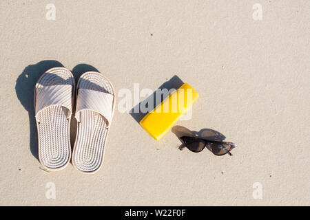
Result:
<svg viewBox="0 0 310 220">
<path fill-rule="evenodd" d="M 198 153 L 200 151 L 203 151 L 205 147 L 209 149 L 214 155 L 225 155 L 228 153 L 232 156 L 232 154 L 229 152 L 233 148 L 235 148 L 237 145 L 231 142 L 221 142 L 218 140 L 205 140 L 201 139 L 199 137 L 189 137 L 189 136 L 183 136 L 180 137 L 180 141 L 186 146 L 189 151 Z M 182 148 L 180 148 L 181 150 Z"/>
</svg>

